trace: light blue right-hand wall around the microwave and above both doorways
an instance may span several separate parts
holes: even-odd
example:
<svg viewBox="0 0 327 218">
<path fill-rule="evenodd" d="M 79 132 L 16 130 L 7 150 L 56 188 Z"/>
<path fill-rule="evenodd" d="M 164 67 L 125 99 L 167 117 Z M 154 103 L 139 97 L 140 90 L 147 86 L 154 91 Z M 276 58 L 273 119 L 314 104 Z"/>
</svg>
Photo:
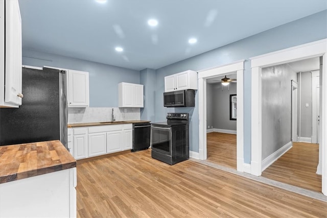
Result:
<svg viewBox="0 0 327 218">
<path fill-rule="evenodd" d="M 260 17 L 258 17 L 260 19 Z M 327 10 L 311 16 L 295 20 L 285 25 L 250 36 L 240 41 L 228 44 L 218 49 L 203 53 L 198 56 L 159 68 L 156 70 L 156 122 L 165 120 L 168 111 L 162 104 L 164 92 L 164 77 L 184 70 L 201 70 L 213 66 L 231 63 L 241 59 L 266 54 L 327 38 Z M 217 30 L 218 31 L 218 30 Z M 223 34 L 223 33 L 222 33 Z M 199 39 L 201 40 L 201 39 Z M 195 45 L 196 46 L 196 45 Z M 251 161 L 251 69 L 250 61 L 245 62 L 244 70 L 244 162 Z M 198 95 L 194 108 L 176 108 L 176 112 L 190 112 L 192 115 L 190 128 L 190 150 L 199 151 L 199 117 Z"/>
</svg>

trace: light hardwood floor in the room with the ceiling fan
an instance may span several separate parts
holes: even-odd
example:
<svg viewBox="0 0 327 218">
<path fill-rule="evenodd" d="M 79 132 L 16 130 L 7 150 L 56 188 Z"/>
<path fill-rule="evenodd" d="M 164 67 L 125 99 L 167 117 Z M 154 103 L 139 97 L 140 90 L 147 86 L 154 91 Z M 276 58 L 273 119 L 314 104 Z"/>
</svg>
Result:
<svg viewBox="0 0 327 218">
<path fill-rule="evenodd" d="M 206 137 L 207 160 L 236 169 L 236 135 L 211 132 Z"/>
</svg>

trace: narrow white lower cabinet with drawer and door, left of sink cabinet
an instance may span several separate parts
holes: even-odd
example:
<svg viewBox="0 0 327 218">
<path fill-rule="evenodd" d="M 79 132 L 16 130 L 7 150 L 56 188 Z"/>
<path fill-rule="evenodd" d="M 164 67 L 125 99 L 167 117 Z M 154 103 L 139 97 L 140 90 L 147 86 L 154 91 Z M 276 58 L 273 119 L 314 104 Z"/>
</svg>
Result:
<svg viewBox="0 0 327 218">
<path fill-rule="evenodd" d="M 87 128 L 74 128 L 74 158 L 87 158 Z"/>
</svg>

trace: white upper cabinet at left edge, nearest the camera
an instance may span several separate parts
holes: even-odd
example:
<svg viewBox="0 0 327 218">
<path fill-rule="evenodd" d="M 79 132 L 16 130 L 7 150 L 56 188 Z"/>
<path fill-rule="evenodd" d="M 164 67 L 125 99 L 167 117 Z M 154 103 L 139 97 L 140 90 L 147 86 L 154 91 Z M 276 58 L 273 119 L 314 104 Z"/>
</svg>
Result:
<svg viewBox="0 0 327 218">
<path fill-rule="evenodd" d="M 22 97 L 19 5 L 16 0 L 0 1 L 0 107 L 17 108 Z"/>
</svg>

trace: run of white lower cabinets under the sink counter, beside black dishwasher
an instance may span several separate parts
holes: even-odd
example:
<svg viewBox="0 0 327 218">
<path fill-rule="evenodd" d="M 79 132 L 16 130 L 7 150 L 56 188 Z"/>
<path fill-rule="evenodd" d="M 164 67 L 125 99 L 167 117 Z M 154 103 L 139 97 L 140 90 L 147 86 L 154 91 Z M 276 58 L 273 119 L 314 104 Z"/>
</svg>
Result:
<svg viewBox="0 0 327 218">
<path fill-rule="evenodd" d="M 75 159 L 83 159 L 132 149 L 132 124 L 115 124 L 68 129 L 68 148 L 73 144 Z M 69 137 L 73 141 L 69 142 Z M 72 151 L 71 151 L 72 152 Z"/>
</svg>

